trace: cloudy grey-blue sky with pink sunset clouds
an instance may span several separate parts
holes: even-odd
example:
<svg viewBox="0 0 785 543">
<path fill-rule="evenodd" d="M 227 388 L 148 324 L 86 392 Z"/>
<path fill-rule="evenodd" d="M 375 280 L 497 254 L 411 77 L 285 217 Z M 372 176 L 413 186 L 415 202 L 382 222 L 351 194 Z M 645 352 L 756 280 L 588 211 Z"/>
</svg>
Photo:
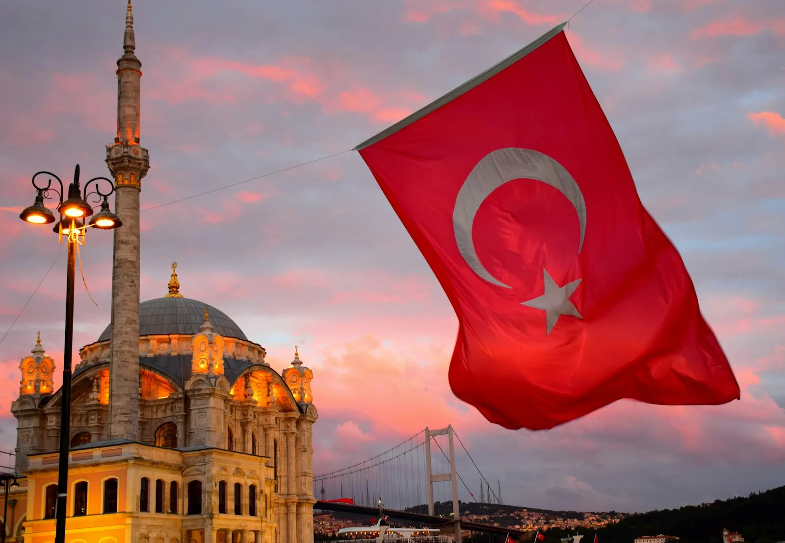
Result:
<svg viewBox="0 0 785 543">
<path fill-rule="evenodd" d="M 583 3 L 134 0 L 142 208 L 347 151 Z M 58 365 L 63 344 L 61 247 L 17 215 L 39 169 L 107 174 L 124 13 L 124 0 L 0 3 L 0 337 L 60 254 L 0 344 L 5 450 L 20 358 L 36 330 Z M 300 345 L 317 472 L 452 424 L 507 503 L 632 511 L 785 484 L 785 4 L 594 0 L 568 40 L 741 401 L 619 402 L 550 432 L 491 425 L 451 395 L 455 314 L 356 152 L 144 211 L 143 300 L 166 293 L 177 261 L 181 293 L 232 316 L 272 366 Z M 78 276 L 77 347 L 108 323 L 110 263 L 111 234 L 89 232 L 97 306 Z"/>
</svg>

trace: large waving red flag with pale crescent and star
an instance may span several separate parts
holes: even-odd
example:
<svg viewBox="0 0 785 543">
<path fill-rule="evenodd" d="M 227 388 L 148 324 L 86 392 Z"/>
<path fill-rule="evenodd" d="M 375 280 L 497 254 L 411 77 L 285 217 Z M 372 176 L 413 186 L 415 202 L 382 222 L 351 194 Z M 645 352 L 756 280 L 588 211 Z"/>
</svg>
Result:
<svg viewBox="0 0 785 543">
<path fill-rule="evenodd" d="M 452 390 L 531 429 L 737 399 L 563 26 L 357 146 L 458 315 Z"/>
</svg>

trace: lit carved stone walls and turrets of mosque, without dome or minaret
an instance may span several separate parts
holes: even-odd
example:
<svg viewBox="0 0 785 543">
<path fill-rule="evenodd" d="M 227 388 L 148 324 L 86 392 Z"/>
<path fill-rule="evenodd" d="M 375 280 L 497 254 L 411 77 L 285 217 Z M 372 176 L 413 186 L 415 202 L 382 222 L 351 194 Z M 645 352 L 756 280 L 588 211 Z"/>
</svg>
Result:
<svg viewBox="0 0 785 543">
<path fill-rule="evenodd" d="M 151 339 L 188 344 L 190 354 L 140 351 L 140 439 L 133 441 L 111 439 L 108 432 L 107 341 L 82 348 L 72 385 L 67 543 L 311 543 L 312 425 L 318 414 L 312 371 L 299 353 L 278 374 L 265 363 L 263 348 L 221 336 L 209 316 L 198 333 L 139 339 L 140 347 Z M 239 353 L 243 359 L 232 358 Z M 40 340 L 33 356 L 22 359 L 23 376 L 34 373 L 31 360 L 34 367 L 44 361 L 53 367 Z M 186 371 L 172 375 L 172 367 Z M 13 494 L 20 502 L 16 516 L 24 511 L 17 541 L 51 543 L 46 489 L 57 484 L 61 391 L 27 388 L 27 381 L 12 406 L 16 469 L 27 476 Z M 104 512 L 111 478 L 117 479 L 117 512 L 97 523 L 92 515 Z M 75 514 L 78 483 L 88 489 L 86 516 Z"/>
</svg>

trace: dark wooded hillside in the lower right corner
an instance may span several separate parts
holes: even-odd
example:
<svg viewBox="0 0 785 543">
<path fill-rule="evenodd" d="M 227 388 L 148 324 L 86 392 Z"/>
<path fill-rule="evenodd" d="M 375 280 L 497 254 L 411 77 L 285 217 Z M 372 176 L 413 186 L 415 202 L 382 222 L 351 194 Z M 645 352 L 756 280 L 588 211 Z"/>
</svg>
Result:
<svg viewBox="0 0 785 543">
<path fill-rule="evenodd" d="M 633 543 L 641 535 L 675 535 L 679 543 L 722 543 L 722 530 L 739 532 L 746 543 L 785 541 L 785 487 L 749 497 L 717 500 L 626 516 L 618 524 L 598 530 L 599 543 Z M 558 543 L 561 530 L 548 530 L 545 543 Z M 593 533 L 584 541 L 593 540 Z"/>
</svg>

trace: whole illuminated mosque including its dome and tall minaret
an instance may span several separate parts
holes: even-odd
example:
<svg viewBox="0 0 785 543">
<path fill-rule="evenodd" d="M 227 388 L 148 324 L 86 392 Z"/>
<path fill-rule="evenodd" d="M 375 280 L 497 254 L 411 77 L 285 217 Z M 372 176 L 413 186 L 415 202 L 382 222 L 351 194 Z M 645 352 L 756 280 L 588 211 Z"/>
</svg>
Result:
<svg viewBox="0 0 785 543">
<path fill-rule="evenodd" d="M 126 13 L 118 64 L 111 323 L 79 351 L 71 386 L 66 543 L 312 543 L 311 370 L 278 374 L 217 308 L 183 297 L 172 264 L 139 303 L 141 62 Z M 166 275 L 163 276 L 164 278 Z M 166 286 L 166 288 L 165 288 Z M 52 543 L 62 390 L 39 334 L 21 359 L 6 539 Z"/>
</svg>

